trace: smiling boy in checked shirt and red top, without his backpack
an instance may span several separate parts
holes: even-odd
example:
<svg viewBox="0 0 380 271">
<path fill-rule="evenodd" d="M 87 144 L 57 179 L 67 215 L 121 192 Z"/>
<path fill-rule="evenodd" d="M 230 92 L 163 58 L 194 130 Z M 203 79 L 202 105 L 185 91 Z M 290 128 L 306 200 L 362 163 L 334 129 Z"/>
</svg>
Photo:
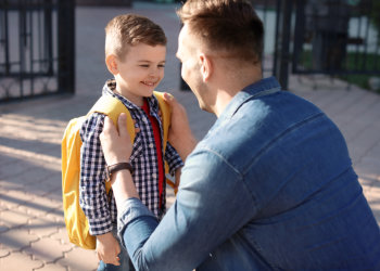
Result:
<svg viewBox="0 0 380 271">
<path fill-rule="evenodd" d="M 159 103 L 152 95 L 164 77 L 165 55 L 165 34 L 147 17 L 119 15 L 105 27 L 105 63 L 114 79 L 106 81 L 102 94 L 121 100 L 136 120 L 140 131 L 136 133 L 130 165 L 141 201 L 159 219 L 165 212 L 164 159 L 177 183 L 182 166 L 169 143 L 163 154 Z M 115 201 L 112 191 L 106 195 L 104 188 L 106 164 L 99 140 L 104 117 L 93 113 L 80 129 L 80 206 L 89 220 L 90 234 L 97 236 L 101 260 L 98 270 L 128 270 L 128 255 L 121 253 L 114 235 Z"/>
</svg>

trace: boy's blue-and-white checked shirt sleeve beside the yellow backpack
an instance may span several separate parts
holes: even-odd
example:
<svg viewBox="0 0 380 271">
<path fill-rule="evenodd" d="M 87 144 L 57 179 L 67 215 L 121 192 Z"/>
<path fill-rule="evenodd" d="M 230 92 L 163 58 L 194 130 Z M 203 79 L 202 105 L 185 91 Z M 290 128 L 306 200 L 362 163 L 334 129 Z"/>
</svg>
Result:
<svg viewBox="0 0 380 271">
<path fill-rule="evenodd" d="M 91 235 L 112 231 L 112 219 L 104 185 L 105 159 L 99 136 L 103 130 L 104 115 L 94 113 L 83 125 L 80 138 L 79 203 Z"/>
</svg>

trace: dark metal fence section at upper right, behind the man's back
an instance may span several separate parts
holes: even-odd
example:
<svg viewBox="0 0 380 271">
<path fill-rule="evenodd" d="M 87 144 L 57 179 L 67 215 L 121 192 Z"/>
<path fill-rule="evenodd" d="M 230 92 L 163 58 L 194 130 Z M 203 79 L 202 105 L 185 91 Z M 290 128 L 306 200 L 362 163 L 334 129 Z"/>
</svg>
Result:
<svg viewBox="0 0 380 271">
<path fill-rule="evenodd" d="M 297 0 L 292 72 L 379 75 L 378 0 Z"/>
</svg>

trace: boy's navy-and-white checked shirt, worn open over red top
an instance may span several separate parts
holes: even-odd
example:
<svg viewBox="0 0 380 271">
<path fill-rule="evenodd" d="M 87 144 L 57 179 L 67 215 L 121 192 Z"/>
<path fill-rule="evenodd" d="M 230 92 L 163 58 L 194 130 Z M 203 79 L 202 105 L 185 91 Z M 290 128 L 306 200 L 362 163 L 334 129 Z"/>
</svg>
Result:
<svg viewBox="0 0 380 271">
<path fill-rule="evenodd" d="M 160 219 L 165 212 L 165 182 L 163 204 L 160 204 L 159 162 L 151 122 L 142 108 L 136 106 L 122 95 L 113 92 L 114 80 L 109 80 L 103 88 L 103 95 L 113 95 L 123 102 L 136 119 L 140 132 L 136 134 L 130 164 L 134 167 L 134 182 L 142 203 Z M 150 112 L 157 119 L 163 138 L 162 122 L 159 117 L 159 102 L 152 96 L 148 99 Z M 112 191 L 105 193 L 105 159 L 99 136 L 103 130 L 104 115 L 93 113 L 83 124 L 80 138 L 80 207 L 88 218 L 91 235 L 100 235 L 112 231 L 116 223 L 117 209 Z M 163 143 L 162 143 L 163 145 Z M 183 166 L 176 150 L 167 142 L 163 158 L 168 163 L 170 173 Z"/>
</svg>

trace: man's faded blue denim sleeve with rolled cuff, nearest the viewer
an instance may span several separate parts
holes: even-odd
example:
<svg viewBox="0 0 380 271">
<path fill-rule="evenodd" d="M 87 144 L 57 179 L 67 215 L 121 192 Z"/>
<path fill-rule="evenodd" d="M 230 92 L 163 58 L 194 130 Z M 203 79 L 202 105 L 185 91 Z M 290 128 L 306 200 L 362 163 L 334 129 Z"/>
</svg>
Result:
<svg viewBox="0 0 380 271">
<path fill-rule="evenodd" d="M 243 182 L 223 157 L 200 152 L 188 157 L 176 202 L 160 224 L 140 201 L 124 202 L 118 231 L 135 267 L 154 271 L 200 266 L 254 216 Z"/>
</svg>

